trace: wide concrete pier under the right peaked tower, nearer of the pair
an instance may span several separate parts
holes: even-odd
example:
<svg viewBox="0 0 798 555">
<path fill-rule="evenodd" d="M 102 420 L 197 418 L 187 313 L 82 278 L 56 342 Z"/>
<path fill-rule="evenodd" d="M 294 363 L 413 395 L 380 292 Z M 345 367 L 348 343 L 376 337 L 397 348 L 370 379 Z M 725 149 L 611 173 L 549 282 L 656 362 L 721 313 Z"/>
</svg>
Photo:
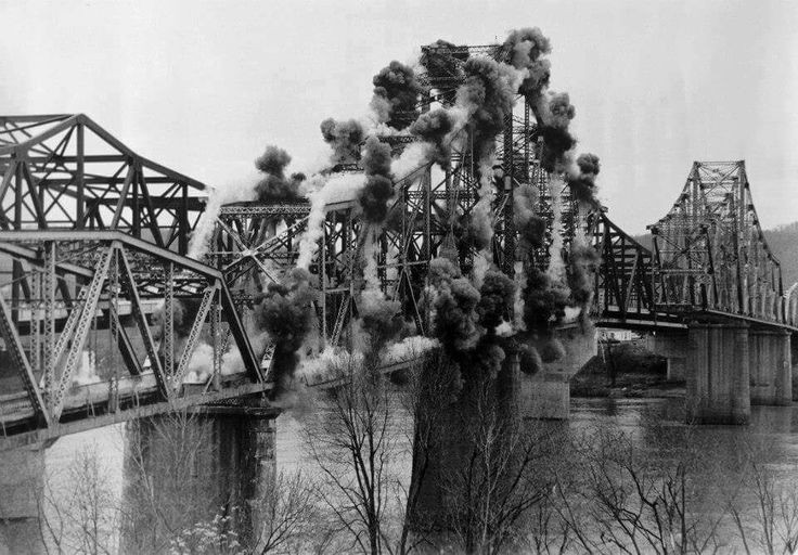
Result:
<svg viewBox="0 0 798 555">
<path fill-rule="evenodd" d="M 687 330 L 687 422 L 748 424 L 748 326 L 694 322 Z"/>
</svg>

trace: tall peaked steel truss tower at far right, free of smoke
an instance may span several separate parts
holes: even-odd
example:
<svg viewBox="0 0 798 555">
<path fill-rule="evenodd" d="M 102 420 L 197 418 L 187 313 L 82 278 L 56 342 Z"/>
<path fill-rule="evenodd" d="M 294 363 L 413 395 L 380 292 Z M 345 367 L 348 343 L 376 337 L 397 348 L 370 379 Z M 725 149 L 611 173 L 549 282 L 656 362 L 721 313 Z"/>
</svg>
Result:
<svg viewBox="0 0 798 555">
<path fill-rule="evenodd" d="M 695 162 L 671 210 L 649 229 L 658 307 L 783 320 L 781 267 L 762 234 L 744 162 Z"/>
</svg>

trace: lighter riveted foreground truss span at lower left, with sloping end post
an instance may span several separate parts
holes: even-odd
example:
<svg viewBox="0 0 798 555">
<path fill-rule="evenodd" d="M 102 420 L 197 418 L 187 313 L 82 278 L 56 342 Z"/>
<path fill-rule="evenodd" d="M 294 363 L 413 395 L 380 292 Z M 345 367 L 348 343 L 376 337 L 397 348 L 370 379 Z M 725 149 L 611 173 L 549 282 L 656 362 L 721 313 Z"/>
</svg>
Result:
<svg viewBox="0 0 798 555">
<path fill-rule="evenodd" d="M 214 268 L 119 231 L 65 230 L 0 231 L 0 264 L 21 273 L 0 278 L 12 366 L 0 380 L 3 436 L 269 388 Z M 157 267 L 166 270 L 154 275 Z M 14 299 L 21 279 L 36 286 Z M 163 309 L 153 310 L 154 299 Z M 226 353 L 227 337 L 234 349 Z M 207 362 L 201 344 L 213 352 Z"/>
</svg>

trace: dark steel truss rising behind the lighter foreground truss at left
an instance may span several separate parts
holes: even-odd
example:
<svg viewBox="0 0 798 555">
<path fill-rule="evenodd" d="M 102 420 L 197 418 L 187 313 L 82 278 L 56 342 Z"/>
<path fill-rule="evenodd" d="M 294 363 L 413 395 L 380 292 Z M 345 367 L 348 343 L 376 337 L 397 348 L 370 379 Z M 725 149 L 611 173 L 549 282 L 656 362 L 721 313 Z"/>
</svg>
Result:
<svg viewBox="0 0 798 555">
<path fill-rule="evenodd" d="M 180 254 L 205 185 L 82 114 L 0 116 L 0 228 L 120 230 Z"/>
</svg>

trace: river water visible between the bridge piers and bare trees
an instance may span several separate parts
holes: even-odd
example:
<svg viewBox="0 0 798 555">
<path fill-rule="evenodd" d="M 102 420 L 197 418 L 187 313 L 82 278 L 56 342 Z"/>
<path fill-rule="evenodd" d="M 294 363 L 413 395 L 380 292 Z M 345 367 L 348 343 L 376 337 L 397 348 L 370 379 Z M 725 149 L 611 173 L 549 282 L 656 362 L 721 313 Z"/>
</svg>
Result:
<svg viewBox="0 0 798 555">
<path fill-rule="evenodd" d="M 409 431 L 412 423 L 407 413 L 399 414 L 392 428 L 398 449 L 391 466 L 398 474 L 397 478 L 407 483 L 410 479 Z M 280 469 L 303 468 L 312 473 L 314 463 L 303 434 L 309 422 L 307 416 L 293 414 L 284 414 L 278 420 L 276 459 Z M 798 405 L 754 406 L 749 426 L 694 427 L 684 424 L 683 398 L 575 398 L 571 399 L 569 421 L 542 426 L 562 434 L 564 438 L 622 431 L 631 438 L 635 449 L 651 457 L 655 468 L 657 465 L 666 467 L 691 453 L 700 453 L 697 472 L 702 475 L 698 482 L 703 493 L 698 495 L 698 504 L 702 512 L 710 515 L 719 513 L 730 495 L 737 500 L 744 514 L 754 515 L 757 511 L 754 483 L 741 465 L 741 460 L 747 454 L 752 454 L 760 467 L 769 472 L 777 490 L 789 490 L 798 480 Z M 64 437 L 48 450 L 46 464 L 50 469 L 68 467 L 78 453 L 89 449 L 100 455 L 108 483 L 120 493 L 124 442 L 121 426 Z M 558 464 L 569 463 L 569 453 L 562 452 L 556 456 L 563 459 Z M 64 479 L 68 480 L 68 477 Z M 731 533 L 731 526 L 728 519 L 724 525 L 726 533 Z M 725 551 L 729 550 L 722 550 Z"/>
</svg>

